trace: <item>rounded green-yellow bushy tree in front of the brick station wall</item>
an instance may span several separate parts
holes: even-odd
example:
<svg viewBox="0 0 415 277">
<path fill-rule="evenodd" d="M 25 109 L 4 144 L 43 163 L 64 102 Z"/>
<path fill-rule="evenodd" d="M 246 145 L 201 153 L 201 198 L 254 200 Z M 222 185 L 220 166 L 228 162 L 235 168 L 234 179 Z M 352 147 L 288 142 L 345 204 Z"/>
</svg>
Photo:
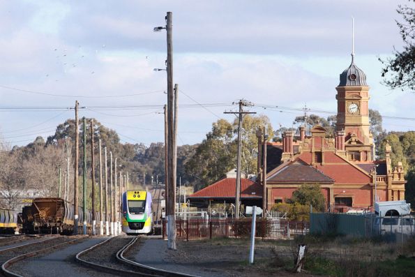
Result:
<svg viewBox="0 0 415 277">
<path fill-rule="evenodd" d="M 291 201 L 301 205 L 312 205 L 317 211 L 324 211 L 326 204 L 319 184 L 303 184 L 292 193 Z"/>
</svg>

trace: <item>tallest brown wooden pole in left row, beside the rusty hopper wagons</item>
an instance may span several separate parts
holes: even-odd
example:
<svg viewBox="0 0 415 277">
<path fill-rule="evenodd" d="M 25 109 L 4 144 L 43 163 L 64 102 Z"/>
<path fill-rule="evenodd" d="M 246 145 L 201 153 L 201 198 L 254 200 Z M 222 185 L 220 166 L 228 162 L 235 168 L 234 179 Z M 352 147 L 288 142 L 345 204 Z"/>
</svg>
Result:
<svg viewBox="0 0 415 277">
<path fill-rule="evenodd" d="M 73 212 L 74 212 L 74 224 L 73 224 L 73 234 L 78 234 L 78 220 L 79 214 L 78 211 L 78 163 L 80 159 L 80 127 L 78 126 L 78 108 L 80 103 L 75 101 L 75 165 L 74 167 L 74 181 L 73 181 Z"/>
</svg>

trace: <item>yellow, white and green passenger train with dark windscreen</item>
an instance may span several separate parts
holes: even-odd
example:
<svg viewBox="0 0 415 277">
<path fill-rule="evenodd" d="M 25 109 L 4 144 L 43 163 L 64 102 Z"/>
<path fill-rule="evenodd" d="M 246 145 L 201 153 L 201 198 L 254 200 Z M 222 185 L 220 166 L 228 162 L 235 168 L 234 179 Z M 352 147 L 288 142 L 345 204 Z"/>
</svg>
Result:
<svg viewBox="0 0 415 277">
<path fill-rule="evenodd" d="M 127 190 L 122 197 L 122 231 L 126 234 L 153 233 L 151 193 L 146 190 Z"/>
</svg>

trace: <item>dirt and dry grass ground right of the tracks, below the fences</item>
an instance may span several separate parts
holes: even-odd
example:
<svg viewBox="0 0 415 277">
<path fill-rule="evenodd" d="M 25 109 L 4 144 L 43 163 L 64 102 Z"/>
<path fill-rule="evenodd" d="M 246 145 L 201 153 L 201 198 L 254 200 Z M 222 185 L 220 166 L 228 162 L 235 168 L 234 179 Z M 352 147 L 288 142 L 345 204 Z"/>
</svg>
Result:
<svg viewBox="0 0 415 277">
<path fill-rule="evenodd" d="M 304 267 L 307 270 L 296 274 L 293 272 L 294 255 L 299 243 L 308 247 Z M 391 276 L 393 272 L 395 276 L 415 276 L 414 266 L 409 269 L 405 264 L 393 262 L 402 255 L 415 259 L 414 246 L 415 240 L 406 244 L 387 244 L 349 237 L 256 240 L 254 264 L 249 264 L 248 239 L 217 238 L 179 241 L 177 251 L 170 252 L 168 260 L 210 270 L 220 276 Z"/>
</svg>

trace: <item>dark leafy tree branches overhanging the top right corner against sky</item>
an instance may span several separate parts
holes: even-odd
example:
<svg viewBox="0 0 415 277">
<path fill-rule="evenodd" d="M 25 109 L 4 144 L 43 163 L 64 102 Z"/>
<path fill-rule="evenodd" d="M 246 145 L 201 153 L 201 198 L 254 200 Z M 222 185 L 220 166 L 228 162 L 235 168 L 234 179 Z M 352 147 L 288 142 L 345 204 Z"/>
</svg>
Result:
<svg viewBox="0 0 415 277">
<path fill-rule="evenodd" d="M 403 50 L 394 49 L 393 57 L 379 58 L 384 64 L 382 77 L 384 84 L 391 89 L 399 88 L 402 91 L 410 89 L 415 92 L 415 10 L 413 7 L 399 5 L 397 12 L 404 20 L 404 22 L 396 21 L 404 43 Z"/>
</svg>

